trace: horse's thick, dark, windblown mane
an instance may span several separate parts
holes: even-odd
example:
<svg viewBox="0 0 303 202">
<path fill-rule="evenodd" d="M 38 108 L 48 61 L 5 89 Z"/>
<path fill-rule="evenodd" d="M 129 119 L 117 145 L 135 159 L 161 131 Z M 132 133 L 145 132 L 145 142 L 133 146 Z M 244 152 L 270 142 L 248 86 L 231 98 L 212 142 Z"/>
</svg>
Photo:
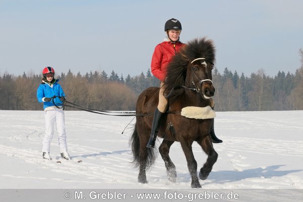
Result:
<svg viewBox="0 0 303 202">
<path fill-rule="evenodd" d="M 180 49 L 169 63 L 164 81 L 165 95 L 168 96 L 169 103 L 173 103 L 184 92 L 181 86 L 185 86 L 187 67 L 191 61 L 205 58 L 208 62 L 214 63 L 215 52 L 213 41 L 205 37 L 193 39 Z"/>
</svg>

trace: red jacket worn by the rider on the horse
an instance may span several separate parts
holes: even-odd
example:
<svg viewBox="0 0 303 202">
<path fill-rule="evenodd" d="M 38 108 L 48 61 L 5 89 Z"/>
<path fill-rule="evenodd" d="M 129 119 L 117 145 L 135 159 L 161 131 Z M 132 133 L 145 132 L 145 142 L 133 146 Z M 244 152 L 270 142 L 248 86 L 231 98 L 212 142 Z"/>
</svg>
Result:
<svg viewBox="0 0 303 202">
<path fill-rule="evenodd" d="M 167 66 L 176 55 L 176 52 L 185 45 L 180 41 L 172 43 L 170 41 L 163 41 L 155 47 L 153 58 L 151 59 L 151 73 L 154 74 L 160 81 L 164 81 L 167 72 Z"/>
</svg>

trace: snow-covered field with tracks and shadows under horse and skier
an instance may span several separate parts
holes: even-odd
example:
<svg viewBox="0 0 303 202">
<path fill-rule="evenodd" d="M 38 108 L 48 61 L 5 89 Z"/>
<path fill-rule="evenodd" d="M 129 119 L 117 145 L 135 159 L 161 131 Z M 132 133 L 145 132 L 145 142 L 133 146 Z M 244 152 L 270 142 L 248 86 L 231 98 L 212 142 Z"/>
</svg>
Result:
<svg viewBox="0 0 303 202">
<path fill-rule="evenodd" d="M 146 173 L 148 183 L 140 184 L 130 163 L 132 127 L 121 134 L 133 117 L 79 111 L 65 115 L 72 160 L 60 164 L 57 134 L 51 145 L 53 160 L 42 159 L 42 111 L 0 111 L 1 189 L 190 189 L 179 142 L 170 151 L 177 182 L 167 180 L 159 155 Z M 303 192 L 303 111 L 217 112 L 215 126 L 224 142 L 214 144 L 219 157 L 208 179 L 200 180 L 203 189 Z M 158 138 L 158 146 L 161 141 Z M 197 143 L 193 150 L 199 171 L 206 155 Z"/>
</svg>

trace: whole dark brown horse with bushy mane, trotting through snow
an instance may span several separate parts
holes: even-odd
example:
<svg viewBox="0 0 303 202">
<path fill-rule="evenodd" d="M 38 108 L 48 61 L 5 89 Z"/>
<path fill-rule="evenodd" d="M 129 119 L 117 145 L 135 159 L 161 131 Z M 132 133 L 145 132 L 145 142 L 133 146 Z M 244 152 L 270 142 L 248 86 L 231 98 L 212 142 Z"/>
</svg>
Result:
<svg viewBox="0 0 303 202">
<path fill-rule="evenodd" d="M 208 155 L 199 178 L 207 179 L 216 163 L 216 153 L 210 137 L 212 118 L 187 118 L 180 113 L 183 108 L 194 107 L 206 109 L 214 96 L 212 69 L 215 61 L 215 47 L 206 38 L 193 39 L 173 57 L 168 66 L 167 78 L 164 82 L 165 95 L 168 99 L 168 110 L 162 119 L 158 137 L 164 138 L 159 152 L 165 162 L 168 179 L 176 181 L 176 167 L 169 157 L 170 146 L 179 141 L 184 151 L 187 167 L 191 175 L 191 187 L 200 188 L 197 176 L 197 163 L 192 153 L 192 143 L 196 141 Z M 133 163 L 139 167 L 138 181 L 147 183 L 145 169 L 155 161 L 154 149 L 146 147 L 149 139 L 153 113 L 158 106 L 159 88 L 145 89 L 137 99 L 136 124 L 130 139 Z M 208 107 L 210 108 L 210 107 Z"/>
</svg>

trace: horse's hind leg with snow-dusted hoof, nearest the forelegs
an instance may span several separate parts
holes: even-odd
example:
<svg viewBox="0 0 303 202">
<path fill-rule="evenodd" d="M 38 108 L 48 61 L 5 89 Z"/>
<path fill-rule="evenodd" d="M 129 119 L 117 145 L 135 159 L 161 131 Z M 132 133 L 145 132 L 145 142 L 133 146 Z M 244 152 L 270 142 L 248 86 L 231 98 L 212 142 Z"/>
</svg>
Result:
<svg viewBox="0 0 303 202">
<path fill-rule="evenodd" d="M 164 139 L 159 147 L 159 152 L 165 163 L 168 180 L 171 182 L 176 182 L 176 177 L 177 177 L 176 166 L 174 165 L 174 163 L 169 157 L 169 149 L 173 143 L 174 141 L 169 141 Z"/>
</svg>

